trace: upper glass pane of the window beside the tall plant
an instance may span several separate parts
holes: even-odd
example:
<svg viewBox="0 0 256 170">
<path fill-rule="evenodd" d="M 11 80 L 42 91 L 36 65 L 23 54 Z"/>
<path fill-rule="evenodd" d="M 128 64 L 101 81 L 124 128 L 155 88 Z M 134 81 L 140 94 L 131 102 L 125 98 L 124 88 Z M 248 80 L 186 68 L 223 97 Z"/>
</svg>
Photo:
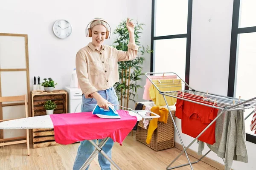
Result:
<svg viewBox="0 0 256 170">
<path fill-rule="evenodd" d="M 187 33 L 188 0 L 156 0 L 155 37 Z"/>
</svg>

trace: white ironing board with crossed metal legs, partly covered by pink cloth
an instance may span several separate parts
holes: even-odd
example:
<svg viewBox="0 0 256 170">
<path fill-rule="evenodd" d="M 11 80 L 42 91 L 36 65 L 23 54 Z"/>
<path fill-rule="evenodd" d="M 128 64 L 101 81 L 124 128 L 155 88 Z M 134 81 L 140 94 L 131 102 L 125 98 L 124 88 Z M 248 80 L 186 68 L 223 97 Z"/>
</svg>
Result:
<svg viewBox="0 0 256 170">
<path fill-rule="evenodd" d="M 131 116 L 136 116 L 137 121 L 144 119 L 151 120 L 153 118 L 159 118 L 160 116 L 153 113 L 155 116 L 146 116 L 147 111 L 128 111 L 128 113 Z M 151 111 L 149 111 L 151 112 Z M 152 113 L 152 112 L 151 112 Z M 69 113 L 70 114 L 70 113 Z M 71 113 L 72 114 L 72 113 Z M 102 118 L 99 118 L 102 119 Z M 53 123 L 52 119 L 50 118 L 49 115 L 45 116 L 35 116 L 35 117 L 29 117 L 29 118 L 22 118 L 22 119 L 15 119 L 15 120 L 9 120 L 5 122 L 0 122 L 0 129 L 48 129 L 48 128 L 53 128 Z M 93 153 L 90 155 L 90 157 L 85 161 L 83 166 L 80 168 L 80 170 L 85 170 L 91 161 L 93 161 L 94 157 L 98 154 L 101 153 L 103 156 L 105 156 L 106 159 L 108 159 L 111 164 L 113 164 L 116 169 L 121 170 L 118 165 L 113 162 L 107 155 L 106 153 L 102 150 L 102 147 L 105 145 L 105 143 L 108 141 L 109 137 L 106 137 L 103 139 L 98 145 L 95 144 L 92 140 L 89 140 L 91 144 L 96 148 Z"/>
</svg>

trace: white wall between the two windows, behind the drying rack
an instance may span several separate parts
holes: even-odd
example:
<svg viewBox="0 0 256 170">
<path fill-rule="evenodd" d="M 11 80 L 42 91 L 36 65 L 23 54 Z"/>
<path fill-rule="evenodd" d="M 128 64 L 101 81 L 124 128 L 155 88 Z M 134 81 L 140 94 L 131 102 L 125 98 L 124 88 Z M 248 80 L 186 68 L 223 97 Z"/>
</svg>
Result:
<svg viewBox="0 0 256 170">
<path fill-rule="evenodd" d="M 189 85 L 195 90 L 227 95 L 232 14 L 233 0 L 193 0 Z M 180 119 L 175 122 L 181 132 Z M 181 136 L 186 146 L 193 140 L 185 134 Z M 177 135 L 175 142 L 180 143 Z M 256 168 L 256 144 L 246 144 L 248 163 L 233 161 L 234 170 Z M 197 151 L 198 144 L 195 142 L 190 148 Z M 206 146 L 204 153 L 207 151 Z M 213 152 L 208 157 L 223 164 Z"/>
</svg>

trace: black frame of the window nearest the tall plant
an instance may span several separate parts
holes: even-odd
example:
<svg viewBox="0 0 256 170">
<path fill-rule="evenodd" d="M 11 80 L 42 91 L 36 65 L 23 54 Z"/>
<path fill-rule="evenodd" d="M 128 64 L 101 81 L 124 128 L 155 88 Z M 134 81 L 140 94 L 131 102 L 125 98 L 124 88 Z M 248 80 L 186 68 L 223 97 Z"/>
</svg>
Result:
<svg viewBox="0 0 256 170">
<path fill-rule="evenodd" d="M 188 19 L 187 19 L 187 33 L 186 34 L 175 34 L 154 37 L 155 33 L 155 5 L 156 0 L 152 0 L 152 15 L 151 15 L 151 53 L 150 57 L 150 72 L 154 72 L 154 40 L 174 39 L 174 38 L 186 38 L 186 70 L 185 70 L 185 82 L 189 84 L 189 68 L 190 68 L 190 46 L 191 46 L 191 23 L 192 23 L 192 0 L 188 0 Z M 185 87 L 188 90 L 188 87 Z"/>
</svg>

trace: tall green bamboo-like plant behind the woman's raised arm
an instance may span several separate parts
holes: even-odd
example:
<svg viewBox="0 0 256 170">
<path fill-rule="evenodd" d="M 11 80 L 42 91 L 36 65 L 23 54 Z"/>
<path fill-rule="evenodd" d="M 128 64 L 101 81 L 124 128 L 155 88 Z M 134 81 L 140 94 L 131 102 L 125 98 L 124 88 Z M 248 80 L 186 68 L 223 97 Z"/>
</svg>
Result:
<svg viewBox="0 0 256 170">
<path fill-rule="evenodd" d="M 140 85 L 138 85 L 138 81 L 141 81 L 141 77 L 143 76 L 143 68 L 141 65 L 143 65 L 145 58 L 142 57 L 142 55 L 153 52 L 148 46 L 145 48 L 143 45 L 140 45 L 140 42 L 138 41 L 143 30 L 143 25 L 145 24 L 138 23 L 137 21 L 134 27 L 135 43 L 139 46 L 138 52 L 140 52 L 140 54 L 138 53 L 134 60 L 118 62 L 120 82 L 116 82 L 114 88 L 116 90 L 118 99 L 121 100 L 121 105 L 125 106 L 126 108 L 128 108 L 128 103 L 130 100 L 135 102 L 134 97 L 137 96 L 137 89 L 142 88 Z M 113 47 L 117 48 L 118 50 L 128 51 L 127 45 L 129 42 L 129 32 L 126 28 L 126 20 L 123 20 L 117 26 L 113 34 L 117 34 L 116 40 L 113 42 Z"/>
</svg>

